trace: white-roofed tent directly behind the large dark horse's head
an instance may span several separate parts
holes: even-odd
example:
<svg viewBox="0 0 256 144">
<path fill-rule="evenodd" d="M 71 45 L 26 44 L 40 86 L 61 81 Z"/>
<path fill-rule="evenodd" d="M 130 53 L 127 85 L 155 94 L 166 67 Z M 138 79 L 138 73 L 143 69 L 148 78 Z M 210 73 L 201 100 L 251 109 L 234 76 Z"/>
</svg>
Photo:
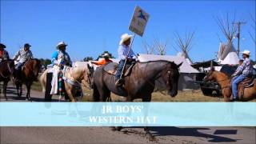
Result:
<svg viewBox="0 0 256 144">
<path fill-rule="evenodd" d="M 179 68 L 180 78 L 178 80 L 178 90 L 194 90 L 198 89 L 198 86 L 194 85 L 191 81 L 196 80 L 196 76 L 199 73 L 186 61 L 186 58 L 182 56 L 170 56 L 170 55 L 153 55 L 153 54 L 139 54 L 138 60 L 140 62 L 149 62 L 157 60 L 166 60 L 179 64 L 182 62 L 182 66 Z M 161 89 L 161 80 L 156 81 L 157 89 Z"/>
</svg>

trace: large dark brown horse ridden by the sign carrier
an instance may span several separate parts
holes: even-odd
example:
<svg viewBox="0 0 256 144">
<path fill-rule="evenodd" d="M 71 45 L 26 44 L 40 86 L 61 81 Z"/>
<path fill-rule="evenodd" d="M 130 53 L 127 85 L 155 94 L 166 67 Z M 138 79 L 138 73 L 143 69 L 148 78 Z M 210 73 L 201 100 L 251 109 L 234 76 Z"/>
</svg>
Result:
<svg viewBox="0 0 256 144">
<path fill-rule="evenodd" d="M 172 97 L 178 94 L 178 67 L 174 62 L 154 61 L 136 62 L 130 76 L 125 77 L 123 88 L 116 88 L 114 75 L 106 73 L 104 66 L 98 67 L 93 75 L 94 102 L 106 102 L 110 98 L 110 92 L 126 97 L 126 102 L 132 102 L 136 98 L 142 98 L 142 102 L 150 102 L 154 91 L 155 81 L 162 78 L 166 84 L 166 90 Z M 118 128 L 116 130 L 121 130 Z M 153 139 L 148 127 L 145 127 L 146 135 Z"/>
</svg>

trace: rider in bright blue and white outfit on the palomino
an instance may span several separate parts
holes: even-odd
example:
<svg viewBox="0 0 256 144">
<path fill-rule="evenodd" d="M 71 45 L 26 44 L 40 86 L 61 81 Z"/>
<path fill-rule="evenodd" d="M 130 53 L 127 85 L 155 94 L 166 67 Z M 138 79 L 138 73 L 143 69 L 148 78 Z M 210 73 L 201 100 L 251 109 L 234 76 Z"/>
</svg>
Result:
<svg viewBox="0 0 256 144">
<path fill-rule="evenodd" d="M 52 55 L 51 62 L 54 67 L 50 94 L 58 93 L 58 74 L 62 72 L 64 66 L 72 66 L 70 55 L 66 53 L 66 46 L 65 42 L 59 42 L 56 46 L 58 50 L 56 50 Z"/>
</svg>

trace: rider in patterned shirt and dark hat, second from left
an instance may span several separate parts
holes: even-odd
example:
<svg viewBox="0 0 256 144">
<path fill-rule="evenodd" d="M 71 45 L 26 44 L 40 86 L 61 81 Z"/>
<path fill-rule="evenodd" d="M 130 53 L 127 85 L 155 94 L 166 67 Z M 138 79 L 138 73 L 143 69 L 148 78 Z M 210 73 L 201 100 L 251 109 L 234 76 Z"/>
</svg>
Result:
<svg viewBox="0 0 256 144">
<path fill-rule="evenodd" d="M 17 60 L 18 63 L 15 66 L 15 73 L 14 73 L 14 78 L 15 80 L 21 80 L 22 74 L 22 66 L 30 59 L 33 58 L 33 54 L 30 50 L 30 44 L 26 43 L 24 47 L 14 55 L 14 61 Z"/>
</svg>

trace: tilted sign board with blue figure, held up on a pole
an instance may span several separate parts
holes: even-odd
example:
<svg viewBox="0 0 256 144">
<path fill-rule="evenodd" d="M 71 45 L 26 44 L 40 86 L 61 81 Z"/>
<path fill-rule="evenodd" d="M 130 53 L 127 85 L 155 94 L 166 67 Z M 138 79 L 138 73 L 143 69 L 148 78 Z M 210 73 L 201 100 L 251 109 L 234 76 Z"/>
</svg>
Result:
<svg viewBox="0 0 256 144">
<path fill-rule="evenodd" d="M 133 18 L 130 21 L 129 30 L 142 37 L 146 27 L 146 22 L 149 20 L 150 14 L 142 10 L 139 6 L 135 7 Z"/>
</svg>

